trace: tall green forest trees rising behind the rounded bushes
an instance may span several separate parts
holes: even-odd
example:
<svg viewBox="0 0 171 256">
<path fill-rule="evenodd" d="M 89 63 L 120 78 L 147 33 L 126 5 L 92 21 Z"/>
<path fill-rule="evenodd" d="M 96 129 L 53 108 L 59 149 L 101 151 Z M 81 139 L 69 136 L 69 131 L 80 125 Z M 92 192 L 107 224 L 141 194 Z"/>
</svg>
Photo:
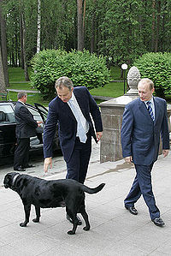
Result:
<svg viewBox="0 0 171 256">
<path fill-rule="evenodd" d="M 29 80 L 41 50 L 86 49 L 119 67 L 146 52 L 170 52 L 170 18 L 171 0 L 0 0 L 0 86 L 9 86 L 9 65 Z"/>
</svg>

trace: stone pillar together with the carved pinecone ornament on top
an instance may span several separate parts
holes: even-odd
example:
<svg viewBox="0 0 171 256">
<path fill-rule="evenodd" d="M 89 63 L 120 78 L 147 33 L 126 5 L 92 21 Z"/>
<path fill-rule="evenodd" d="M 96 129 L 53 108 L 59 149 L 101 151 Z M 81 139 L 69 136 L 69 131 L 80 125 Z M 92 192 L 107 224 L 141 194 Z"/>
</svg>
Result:
<svg viewBox="0 0 171 256">
<path fill-rule="evenodd" d="M 130 68 L 127 74 L 129 91 L 118 98 L 112 98 L 100 104 L 103 120 L 103 138 L 100 145 L 100 163 L 122 158 L 121 122 L 125 105 L 138 98 L 137 86 L 140 80 L 139 69 Z"/>
</svg>

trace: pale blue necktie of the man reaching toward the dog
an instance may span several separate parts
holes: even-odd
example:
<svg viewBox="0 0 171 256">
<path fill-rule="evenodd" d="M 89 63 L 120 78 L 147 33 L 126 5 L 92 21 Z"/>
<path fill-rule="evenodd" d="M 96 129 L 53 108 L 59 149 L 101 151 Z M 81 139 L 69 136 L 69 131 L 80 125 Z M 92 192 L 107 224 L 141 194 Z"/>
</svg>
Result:
<svg viewBox="0 0 171 256">
<path fill-rule="evenodd" d="M 72 101 L 69 102 L 69 105 L 70 105 L 70 108 L 73 111 L 73 114 L 74 114 L 74 116 L 76 118 L 76 121 L 77 121 L 77 134 L 79 135 L 80 142 L 85 143 L 87 137 L 86 137 L 86 134 L 85 134 L 85 128 L 83 127 L 83 124 L 82 124 L 81 119 L 80 119 L 79 112 L 77 111 L 77 109 L 74 106 Z"/>
</svg>

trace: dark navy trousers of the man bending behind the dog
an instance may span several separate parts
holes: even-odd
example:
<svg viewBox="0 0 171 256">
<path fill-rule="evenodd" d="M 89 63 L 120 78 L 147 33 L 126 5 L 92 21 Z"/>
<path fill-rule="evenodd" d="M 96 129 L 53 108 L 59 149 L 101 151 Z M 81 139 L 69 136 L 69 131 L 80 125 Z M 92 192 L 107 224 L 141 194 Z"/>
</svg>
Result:
<svg viewBox="0 0 171 256">
<path fill-rule="evenodd" d="M 67 162 L 67 179 L 73 179 L 77 182 L 84 183 L 91 158 L 91 133 L 86 134 L 85 143 L 80 142 L 79 137 L 75 139 L 74 151 L 71 158 Z"/>
</svg>

